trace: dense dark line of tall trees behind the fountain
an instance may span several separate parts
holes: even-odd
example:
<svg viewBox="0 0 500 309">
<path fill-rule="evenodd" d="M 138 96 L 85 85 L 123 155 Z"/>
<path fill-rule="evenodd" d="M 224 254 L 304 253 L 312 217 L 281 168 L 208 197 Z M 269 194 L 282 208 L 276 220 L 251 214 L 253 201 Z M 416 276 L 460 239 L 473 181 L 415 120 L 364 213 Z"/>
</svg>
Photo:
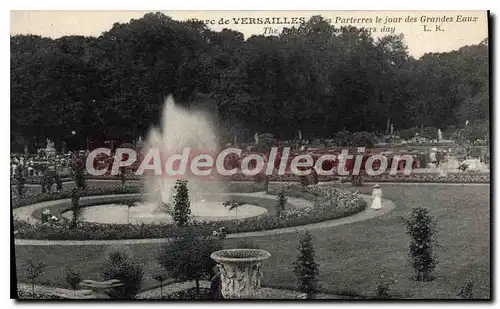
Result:
<svg viewBox="0 0 500 309">
<path fill-rule="evenodd" d="M 224 137 L 292 139 L 342 130 L 464 126 L 489 115 L 488 41 L 409 56 L 402 35 L 374 39 L 312 17 L 301 31 L 252 36 L 149 13 L 99 37 L 11 36 L 13 147 L 46 137 L 135 139 L 166 95 L 211 113 Z"/>
</svg>

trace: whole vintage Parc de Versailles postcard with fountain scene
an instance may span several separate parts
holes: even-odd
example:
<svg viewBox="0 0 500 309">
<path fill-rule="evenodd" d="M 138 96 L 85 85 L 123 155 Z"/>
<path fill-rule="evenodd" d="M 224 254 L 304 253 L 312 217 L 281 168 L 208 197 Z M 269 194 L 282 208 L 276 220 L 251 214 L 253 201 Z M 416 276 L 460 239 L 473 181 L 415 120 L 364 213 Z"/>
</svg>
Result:
<svg viewBox="0 0 500 309">
<path fill-rule="evenodd" d="M 10 18 L 12 298 L 492 298 L 489 12 Z"/>
</svg>

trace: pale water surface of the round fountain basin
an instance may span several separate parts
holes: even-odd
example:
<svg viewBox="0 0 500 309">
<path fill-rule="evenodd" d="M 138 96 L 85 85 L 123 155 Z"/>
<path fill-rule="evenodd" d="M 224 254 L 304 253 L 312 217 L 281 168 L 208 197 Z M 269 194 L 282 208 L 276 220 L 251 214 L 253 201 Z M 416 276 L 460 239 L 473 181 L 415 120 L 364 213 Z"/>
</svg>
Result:
<svg viewBox="0 0 500 309">
<path fill-rule="evenodd" d="M 191 216 L 197 221 L 227 221 L 261 216 L 267 213 L 264 207 L 243 204 L 229 210 L 222 202 L 199 201 L 191 203 Z M 62 213 L 70 219 L 72 211 Z M 80 220 L 108 224 L 171 223 L 172 216 L 159 209 L 156 204 L 139 202 L 128 209 L 124 204 L 103 204 L 81 209 Z"/>
</svg>

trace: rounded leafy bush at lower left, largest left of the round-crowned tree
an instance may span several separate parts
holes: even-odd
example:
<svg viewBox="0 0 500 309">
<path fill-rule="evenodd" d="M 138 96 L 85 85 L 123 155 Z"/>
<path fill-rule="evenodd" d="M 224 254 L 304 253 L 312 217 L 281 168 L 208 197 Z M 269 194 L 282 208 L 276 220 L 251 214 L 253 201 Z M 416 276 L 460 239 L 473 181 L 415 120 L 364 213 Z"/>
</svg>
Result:
<svg viewBox="0 0 500 309">
<path fill-rule="evenodd" d="M 118 299 L 133 299 L 139 292 L 144 275 L 142 265 L 120 249 L 109 253 L 100 273 L 104 280 L 118 279 L 123 283 L 123 286 L 108 292 L 110 297 Z"/>
</svg>

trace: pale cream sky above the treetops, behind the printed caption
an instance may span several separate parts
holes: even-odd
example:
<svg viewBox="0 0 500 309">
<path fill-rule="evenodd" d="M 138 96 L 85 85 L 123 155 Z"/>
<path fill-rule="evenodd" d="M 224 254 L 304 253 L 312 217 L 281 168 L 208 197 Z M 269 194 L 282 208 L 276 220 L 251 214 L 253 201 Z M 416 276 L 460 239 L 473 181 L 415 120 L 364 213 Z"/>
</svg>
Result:
<svg viewBox="0 0 500 309">
<path fill-rule="evenodd" d="M 65 35 L 99 36 L 109 30 L 114 23 L 125 23 L 130 19 L 141 18 L 148 11 L 11 11 L 10 33 L 37 34 L 52 38 Z M 214 30 L 231 28 L 242 32 L 246 38 L 253 34 L 264 34 L 264 27 L 281 31 L 283 25 L 241 24 L 241 18 L 288 18 L 322 15 L 332 19 L 336 26 L 354 25 L 376 27 L 374 37 L 390 34 L 381 32 L 382 27 L 393 27 L 394 33 L 403 33 L 411 55 L 418 58 L 428 52 L 447 52 L 464 45 L 478 44 L 488 37 L 486 11 L 162 11 L 176 20 L 196 18 L 199 20 L 228 19 L 226 25 L 209 25 Z M 461 18 L 458 18 L 461 15 Z M 410 16 L 414 22 L 405 22 Z M 381 22 L 376 23 L 376 17 Z M 384 24 L 386 17 L 401 18 L 399 23 Z M 341 19 L 338 19 L 341 18 Z M 358 23 L 349 23 L 349 18 L 358 18 Z M 361 18 L 364 18 L 361 20 Z M 423 21 L 427 19 L 427 21 Z M 444 22 L 432 18 L 447 19 Z M 371 23 L 369 22 L 371 19 Z M 460 19 L 461 21 L 458 21 Z M 265 21 L 265 20 L 264 20 Z M 335 23 L 337 21 L 337 23 Z M 236 24 L 239 22 L 239 24 Z M 362 23 L 360 23 L 362 22 Z M 428 30 L 423 31 L 424 24 Z M 439 27 L 441 31 L 436 28 Z M 391 29 L 385 29 L 391 30 Z"/>
</svg>

